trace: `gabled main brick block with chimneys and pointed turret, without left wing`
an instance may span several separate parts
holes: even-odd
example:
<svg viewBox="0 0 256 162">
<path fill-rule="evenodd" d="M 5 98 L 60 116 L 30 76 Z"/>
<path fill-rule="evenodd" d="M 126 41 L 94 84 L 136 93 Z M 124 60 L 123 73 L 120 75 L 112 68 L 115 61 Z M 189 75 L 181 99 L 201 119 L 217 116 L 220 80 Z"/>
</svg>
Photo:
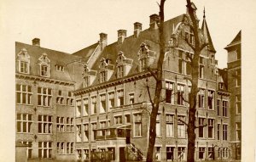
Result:
<svg viewBox="0 0 256 162">
<path fill-rule="evenodd" d="M 154 157 L 157 160 L 186 159 L 186 125 L 178 119 L 188 118 L 191 84 L 188 55 L 192 50 L 185 41 L 194 43 L 188 26 L 188 14 L 165 22 L 168 47 L 163 64 L 163 102 L 157 116 Z M 83 83 L 74 92 L 77 159 L 90 159 L 95 152 L 111 153 L 113 160 L 145 159 L 148 145 L 150 113 L 149 95 L 154 95 L 154 69 L 158 59 L 159 17 L 149 17 L 149 28 L 134 23 L 134 34 L 118 31 L 116 42 L 103 47 L 89 67 L 84 64 Z M 217 68 L 207 20 L 204 16 L 201 34 L 209 45 L 200 58 L 200 88 L 196 125 L 195 159 L 227 159 L 230 148 L 230 92 L 225 73 Z M 100 34 L 105 36 L 106 34 Z M 88 51 L 88 49 L 86 49 Z M 80 55 L 82 56 L 82 55 Z M 147 91 L 149 89 L 149 93 Z"/>
</svg>

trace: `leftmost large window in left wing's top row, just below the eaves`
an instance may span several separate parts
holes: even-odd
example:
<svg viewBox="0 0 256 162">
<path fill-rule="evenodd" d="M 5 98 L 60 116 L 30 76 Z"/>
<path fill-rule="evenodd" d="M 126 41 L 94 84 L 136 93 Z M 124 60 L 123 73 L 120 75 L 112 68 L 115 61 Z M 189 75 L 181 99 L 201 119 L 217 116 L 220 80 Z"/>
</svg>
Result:
<svg viewBox="0 0 256 162">
<path fill-rule="evenodd" d="M 32 104 L 32 87 L 17 84 L 16 100 L 20 104 Z"/>
</svg>

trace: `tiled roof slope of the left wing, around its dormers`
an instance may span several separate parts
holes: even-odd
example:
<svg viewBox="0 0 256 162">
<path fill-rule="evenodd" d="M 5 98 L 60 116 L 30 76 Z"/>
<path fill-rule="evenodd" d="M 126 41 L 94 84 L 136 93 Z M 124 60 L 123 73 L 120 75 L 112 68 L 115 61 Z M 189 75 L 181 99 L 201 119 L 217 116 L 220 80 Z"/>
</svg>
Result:
<svg viewBox="0 0 256 162">
<path fill-rule="evenodd" d="M 22 48 L 26 48 L 27 53 L 30 56 L 30 74 L 40 76 L 40 66 L 39 66 L 39 58 L 42 56 L 42 53 L 46 53 L 47 57 L 50 60 L 50 68 L 49 68 L 49 78 L 56 79 L 61 81 L 72 81 L 68 70 L 57 71 L 55 70 L 55 65 L 62 65 L 67 68 L 67 64 L 72 63 L 75 60 L 80 60 L 81 57 L 71 55 L 68 53 L 63 53 L 59 51 L 55 51 L 52 49 L 32 46 L 22 42 L 15 42 L 15 59 L 17 59 L 17 54 L 20 53 Z M 17 63 L 16 63 L 17 67 Z"/>
</svg>

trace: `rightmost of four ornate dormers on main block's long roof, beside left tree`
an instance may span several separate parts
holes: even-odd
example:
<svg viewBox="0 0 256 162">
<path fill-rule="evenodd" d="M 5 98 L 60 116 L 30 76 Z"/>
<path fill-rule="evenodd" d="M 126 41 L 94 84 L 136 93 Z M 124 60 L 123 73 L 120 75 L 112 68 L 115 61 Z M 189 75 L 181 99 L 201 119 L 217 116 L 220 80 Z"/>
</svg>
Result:
<svg viewBox="0 0 256 162">
<path fill-rule="evenodd" d="M 154 63 L 155 52 L 149 49 L 146 43 L 140 45 L 140 50 L 138 52 L 140 71 L 147 70 L 147 68 Z"/>
</svg>

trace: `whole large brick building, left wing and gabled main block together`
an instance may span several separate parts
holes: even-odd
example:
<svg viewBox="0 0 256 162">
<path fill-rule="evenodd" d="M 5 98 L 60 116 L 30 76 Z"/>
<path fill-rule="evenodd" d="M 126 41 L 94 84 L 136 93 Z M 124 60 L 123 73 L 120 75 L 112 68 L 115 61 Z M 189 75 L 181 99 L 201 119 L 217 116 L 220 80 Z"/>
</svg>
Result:
<svg viewBox="0 0 256 162">
<path fill-rule="evenodd" d="M 195 8 L 196 10 L 196 8 Z M 186 125 L 191 83 L 188 43 L 194 36 L 188 14 L 165 22 L 166 54 L 162 102 L 156 123 L 154 158 L 186 159 Z M 150 98 L 159 58 L 159 16 L 149 28 L 134 23 L 134 34 L 118 31 L 73 54 L 16 42 L 16 141 L 28 144 L 29 159 L 88 160 L 106 152 L 114 161 L 144 159 L 147 154 Z M 195 159 L 228 159 L 230 92 L 226 72 L 218 70 L 204 16 L 196 112 Z M 206 126 L 205 126 L 206 125 Z M 100 154 L 100 155 L 108 155 Z"/>
</svg>

